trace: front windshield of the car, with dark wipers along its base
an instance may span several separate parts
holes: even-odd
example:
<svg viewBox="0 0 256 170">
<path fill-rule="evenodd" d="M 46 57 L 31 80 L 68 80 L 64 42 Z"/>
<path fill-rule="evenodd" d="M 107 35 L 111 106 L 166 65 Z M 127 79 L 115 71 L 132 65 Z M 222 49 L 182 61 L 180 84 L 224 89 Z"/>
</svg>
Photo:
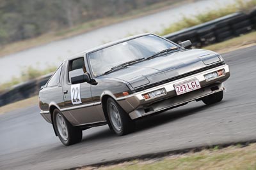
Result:
<svg viewBox="0 0 256 170">
<path fill-rule="evenodd" d="M 92 52 L 89 54 L 89 60 L 94 76 L 99 76 L 125 62 L 146 59 L 157 52 L 175 46 L 170 41 L 149 34 Z"/>
</svg>

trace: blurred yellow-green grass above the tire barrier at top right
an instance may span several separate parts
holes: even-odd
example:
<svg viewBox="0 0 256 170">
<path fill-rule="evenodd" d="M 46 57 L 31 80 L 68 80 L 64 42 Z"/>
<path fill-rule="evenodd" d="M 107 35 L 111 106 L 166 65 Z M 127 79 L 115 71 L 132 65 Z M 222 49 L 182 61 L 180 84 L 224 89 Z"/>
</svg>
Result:
<svg viewBox="0 0 256 170">
<path fill-rule="evenodd" d="M 234 4 L 228 4 L 227 6 L 220 7 L 216 10 L 208 10 L 203 13 L 199 13 L 194 17 L 183 17 L 182 20 L 171 24 L 169 27 L 166 27 L 162 32 L 158 32 L 160 35 L 170 34 L 172 32 L 180 31 L 181 29 L 186 29 L 188 27 L 193 27 L 216 18 L 223 17 L 225 15 L 237 12 L 244 11 L 248 12 L 255 8 L 256 0 L 250 0 L 244 2 L 243 0 L 237 0 Z"/>
</svg>

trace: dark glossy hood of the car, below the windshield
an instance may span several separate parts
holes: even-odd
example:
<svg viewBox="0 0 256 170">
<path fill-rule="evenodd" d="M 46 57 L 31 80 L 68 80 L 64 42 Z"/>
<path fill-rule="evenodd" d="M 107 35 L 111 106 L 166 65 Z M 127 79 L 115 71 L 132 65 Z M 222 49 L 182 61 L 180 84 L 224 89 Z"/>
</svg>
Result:
<svg viewBox="0 0 256 170">
<path fill-rule="evenodd" d="M 201 69 L 221 59 L 208 50 L 190 49 L 144 60 L 106 74 L 106 78 L 127 81 L 134 89 Z"/>
</svg>

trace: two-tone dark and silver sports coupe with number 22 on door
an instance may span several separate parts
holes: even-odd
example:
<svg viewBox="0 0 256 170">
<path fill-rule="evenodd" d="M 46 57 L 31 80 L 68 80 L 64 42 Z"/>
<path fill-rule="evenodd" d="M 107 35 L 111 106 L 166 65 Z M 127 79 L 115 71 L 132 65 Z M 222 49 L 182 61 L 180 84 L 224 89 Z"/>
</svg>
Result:
<svg viewBox="0 0 256 170">
<path fill-rule="evenodd" d="M 65 60 L 39 92 L 40 113 L 64 145 L 99 125 L 124 135 L 138 118 L 191 101 L 220 102 L 229 76 L 218 53 L 141 34 Z"/>
</svg>

